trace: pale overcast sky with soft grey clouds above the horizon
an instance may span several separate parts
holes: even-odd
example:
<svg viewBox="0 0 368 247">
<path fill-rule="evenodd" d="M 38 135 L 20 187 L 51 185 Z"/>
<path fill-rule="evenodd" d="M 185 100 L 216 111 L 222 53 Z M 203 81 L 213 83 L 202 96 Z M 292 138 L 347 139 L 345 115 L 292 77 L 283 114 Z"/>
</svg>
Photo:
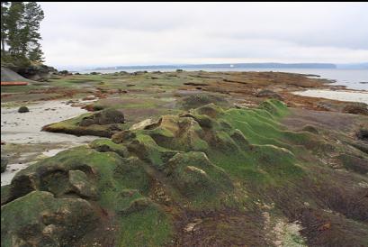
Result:
<svg viewBox="0 0 368 247">
<path fill-rule="evenodd" d="M 40 3 L 57 68 L 366 62 L 367 3 Z"/>
</svg>

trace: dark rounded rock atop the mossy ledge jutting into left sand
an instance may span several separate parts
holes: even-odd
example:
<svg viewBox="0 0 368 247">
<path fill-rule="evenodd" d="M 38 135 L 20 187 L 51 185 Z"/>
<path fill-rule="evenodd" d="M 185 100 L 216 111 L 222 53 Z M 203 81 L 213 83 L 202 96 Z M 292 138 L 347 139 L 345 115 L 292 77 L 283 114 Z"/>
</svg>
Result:
<svg viewBox="0 0 368 247">
<path fill-rule="evenodd" d="M 125 123 L 124 114 L 118 110 L 104 109 L 101 112 L 83 118 L 79 126 L 89 126 L 92 124 L 105 125 L 112 123 Z"/>
</svg>

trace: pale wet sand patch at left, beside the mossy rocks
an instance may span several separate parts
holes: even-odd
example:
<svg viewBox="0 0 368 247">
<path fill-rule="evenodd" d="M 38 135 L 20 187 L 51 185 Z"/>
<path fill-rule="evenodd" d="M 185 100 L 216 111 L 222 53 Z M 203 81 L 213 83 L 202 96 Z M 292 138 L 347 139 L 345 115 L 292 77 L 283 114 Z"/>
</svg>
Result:
<svg viewBox="0 0 368 247">
<path fill-rule="evenodd" d="M 10 160 L 6 171 L 1 174 L 2 186 L 9 184 L 16 172 L 26 168 L 35 160 L 51 157 L 59 151 L 86 144 L 97 138 L 41 132 L 41 128 L 46 124 L 85 114 L 87 111 L 80 107 L 73 107 L 64 101 L 55 100 L 32 104 L 28 108 L 30 112 L 23 114 L 18 113 L 18 107 L 3 107 L 1 110 L 1 140 L 6 143 L 1 148 L 2 156 Z M 45 144 L 48 148 L 45 148 Z M 31 149 L 24 149 L 24 145 L 31 145 Z M 8 148 L 6 149 L 5 146 Z M 17 153 L 20 158 L 13 159 L 12 163 L 14 153 Z"/>
</svg>

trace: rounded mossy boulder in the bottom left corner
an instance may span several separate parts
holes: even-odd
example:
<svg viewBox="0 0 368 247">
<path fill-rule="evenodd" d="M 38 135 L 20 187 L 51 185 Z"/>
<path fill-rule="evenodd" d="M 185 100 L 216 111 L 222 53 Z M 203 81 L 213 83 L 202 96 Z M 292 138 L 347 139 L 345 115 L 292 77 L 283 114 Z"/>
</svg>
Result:
<svg viewBox="0 0 368 247">
<path fill-rule="evenodd" d="M 98 223 L 83 199 L 33 191 L 1 207 L 1 245 L 72 246 Z"/>
</svg>

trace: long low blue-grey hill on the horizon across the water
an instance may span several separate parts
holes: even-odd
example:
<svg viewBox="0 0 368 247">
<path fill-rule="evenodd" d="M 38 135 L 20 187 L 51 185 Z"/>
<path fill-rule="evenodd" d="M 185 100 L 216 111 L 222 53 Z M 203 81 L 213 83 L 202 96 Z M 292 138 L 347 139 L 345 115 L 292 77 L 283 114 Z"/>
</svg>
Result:
<svg viewBox="0 0 368 247">
<path fill-rule="evenodd" d="M 181 64 L 181 65 L 145 65 L 145 66 L 116 66 L 96 68 L 94 70 L 109 69 L 216 69 L 216 68 L 249 68 L 249 69 L 337 69 L 333 63 L 219 63 L 219 64 Z"/>
</svg>

